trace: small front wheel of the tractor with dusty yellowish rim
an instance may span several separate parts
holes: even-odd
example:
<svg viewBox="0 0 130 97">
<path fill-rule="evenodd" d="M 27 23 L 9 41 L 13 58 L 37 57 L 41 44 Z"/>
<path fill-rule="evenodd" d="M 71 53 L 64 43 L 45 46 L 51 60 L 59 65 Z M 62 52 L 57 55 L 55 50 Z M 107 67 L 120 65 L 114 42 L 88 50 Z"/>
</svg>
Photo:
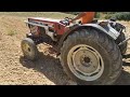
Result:
<svg viewBox="0 0 130 97">
<path fill-rule="evenodd" d="M 22 43 L 21 47 L 23 51 L 24 56 L 29 60 L 37 60 L 38 59 L 38 48 L 35 42 L 30 38 L 25 38 Z"/>
</svg>

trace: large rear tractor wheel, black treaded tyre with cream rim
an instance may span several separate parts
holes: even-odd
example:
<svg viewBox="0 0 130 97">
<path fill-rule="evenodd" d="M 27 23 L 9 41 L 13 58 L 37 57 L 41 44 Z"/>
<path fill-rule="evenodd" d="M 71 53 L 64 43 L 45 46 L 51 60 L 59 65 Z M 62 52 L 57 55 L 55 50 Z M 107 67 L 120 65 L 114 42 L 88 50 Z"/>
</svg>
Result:
<svg viewBox="0 0 130 97">
<path fill-rule="evenodd" d="M 122 58 L 113 39 L 93 29 L 75 31 L 64 41 L 61 63 L 80 85 L 110 85 L 121 72 Z"/>
</svg>

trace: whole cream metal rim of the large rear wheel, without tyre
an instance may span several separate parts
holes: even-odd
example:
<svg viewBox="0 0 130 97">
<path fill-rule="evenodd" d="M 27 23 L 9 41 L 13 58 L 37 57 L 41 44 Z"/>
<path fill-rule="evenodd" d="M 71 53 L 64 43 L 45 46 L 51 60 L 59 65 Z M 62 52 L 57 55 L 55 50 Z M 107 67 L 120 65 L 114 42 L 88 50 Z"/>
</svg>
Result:
<svg viewBox="0 0 130 97">
<path fill-rule="evenodd" d="M 67 56 L 70 71 L 80 80 L 98 80 L 104 71 L 104 61 L 92 46 L 79 44 L 74 46 Z"/>
</svg>

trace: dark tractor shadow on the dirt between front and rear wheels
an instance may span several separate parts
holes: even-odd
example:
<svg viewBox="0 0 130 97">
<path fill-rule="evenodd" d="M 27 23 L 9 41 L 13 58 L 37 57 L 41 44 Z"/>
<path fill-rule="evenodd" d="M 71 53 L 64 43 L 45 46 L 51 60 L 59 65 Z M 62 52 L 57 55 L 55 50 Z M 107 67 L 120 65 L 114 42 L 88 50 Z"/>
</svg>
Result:
<svg viewBox="0 0 130 97">
<path fill-rule="evenodd" d="M 69 79 L 63 71 L 61 63 L 58 59 L 50 55 L 44 55 L 40 52 L 40 57 L 36 61 L 27 60 L 25 57 L 21 56 L 20 63 L 26 68 L 32 68 L 38 72 L 46 75 L 55 85 L 66 85 Z"/>
</svg>

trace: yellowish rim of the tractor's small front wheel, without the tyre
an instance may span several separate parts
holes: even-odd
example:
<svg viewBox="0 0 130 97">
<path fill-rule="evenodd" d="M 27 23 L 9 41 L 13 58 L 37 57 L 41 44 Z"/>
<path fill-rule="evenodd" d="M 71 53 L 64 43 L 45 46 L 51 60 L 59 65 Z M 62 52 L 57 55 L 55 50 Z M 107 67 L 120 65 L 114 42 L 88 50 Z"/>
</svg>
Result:
<svg viewBox="0 0 130 97">
<path fill-rule="evenodd" d="M 29 56 L 32 55 L 32 50 L 29 46 L 29 44 L 23 43 L 22 48 L 23 48 L 23 52 L 24 52 L 25 56 L 29 57 Z"/>
</svg>

